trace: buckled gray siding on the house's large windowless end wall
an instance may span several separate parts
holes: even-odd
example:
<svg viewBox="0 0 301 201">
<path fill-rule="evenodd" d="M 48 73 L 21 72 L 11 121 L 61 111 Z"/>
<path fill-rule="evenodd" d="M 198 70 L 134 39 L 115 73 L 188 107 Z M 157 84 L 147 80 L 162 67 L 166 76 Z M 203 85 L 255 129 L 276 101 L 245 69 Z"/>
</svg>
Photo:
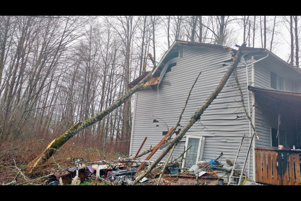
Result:
<svg viewBox="0 0 301 201">
<path fill-rule="evenodd" d="M 184 57 L 178 59 L 177 65 L 172 67 L 172 70 L 167 72 L 163 78 L 170 81 L 170 86 L 161 84 L 159 91 L 142 90 L 136 93 L 131 154 L 136 154 L 145 137 L 148 139 L 142 150 L 161 141 L 162 131 L 168 130 L 166 125 L 169 129 L 176 125 L 188 92 L 198 73 L 202 71 L 192 90 L 181 125 L 184 126 L 189 121 L 224 76 L 230 65 L 230 54 L 231 52 L 209 48 L 185 48 Z M 237 75 L 247 106 L 244 64 L 239 63 Z M 249 68 L 249 82 L 251 83 L 251 67 Z M 153 123 L 154 119 L 159 122 Z M 225 164 L 227 157 L 235 158 L 243 133 L 249 134 L 249 121 L 241 107 L 240 92 L 236 87 L 234 73 L 218 97 L 203 113 L 200 122 L 195 123 L 186 135 L 198 135 L 206 138 L 203 160 L 215 159 L 221 152 L 223 152 L 219 160 L 221 163 Z M 184 137 L 177 145 L 173 158 L 184 151 L 185 140 Z M 161 150 L 158 150 L 151 159 L 155 159 L 160 153 Z M 143 156 L 142 159 L 145 157 Z M 250 173 L 252 174 L 252 166 Z"/>
</svg>

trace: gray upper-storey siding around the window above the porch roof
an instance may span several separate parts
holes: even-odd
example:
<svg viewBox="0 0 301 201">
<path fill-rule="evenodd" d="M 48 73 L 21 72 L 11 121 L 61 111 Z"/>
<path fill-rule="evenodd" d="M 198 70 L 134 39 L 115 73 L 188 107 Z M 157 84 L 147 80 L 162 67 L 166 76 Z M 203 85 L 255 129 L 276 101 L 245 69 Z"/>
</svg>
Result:
<svg viewBox="0 0 301 201">
<path fill-rule="evenodd" d="M 283 77 L 283 85 L 285 91 L 295 91 L 294 81 L 287 76 L 279 73 L 270 66 L 264 64 L 263 62 L 258 62 L 255 64 L 255 86 L 271 89 L 270 87 L 270 71 L 277 73 Z"/>
</svg>

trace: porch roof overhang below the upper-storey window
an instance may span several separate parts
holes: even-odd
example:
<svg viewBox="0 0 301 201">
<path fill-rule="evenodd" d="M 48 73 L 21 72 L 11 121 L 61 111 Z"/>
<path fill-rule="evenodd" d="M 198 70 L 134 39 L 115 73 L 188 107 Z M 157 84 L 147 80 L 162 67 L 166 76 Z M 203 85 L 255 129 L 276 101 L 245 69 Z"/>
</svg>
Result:
<svg viewBox="0 0 301 201">
<path fill-rule="evenodd" d="M 253 86 L 248 86 L 248 90 L 275 102 L 286 103 L 292 107 L 301 108 L 301 93 L 264 89 Z"/>
</svg>

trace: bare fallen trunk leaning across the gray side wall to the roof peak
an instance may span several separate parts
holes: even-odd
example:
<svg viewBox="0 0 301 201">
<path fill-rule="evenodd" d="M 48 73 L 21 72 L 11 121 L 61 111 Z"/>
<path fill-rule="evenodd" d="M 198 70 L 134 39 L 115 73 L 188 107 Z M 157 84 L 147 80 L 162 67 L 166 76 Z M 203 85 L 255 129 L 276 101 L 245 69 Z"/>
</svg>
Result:
<svg viewBox="0 0 301 201">
<path fill-rule="evenodd" d="M 246 43 L 244 42 L 242 46 L 246 46 Z M 162 158 L 172 149 L 174 144 L 177 144 L 182 137 L 185 135 L 185 133 L 193 126 L 195 122 L 197 122 L 200 118 L 203 112 L 210 106 L 212 101 L 219 95 L 221 90 L 224 88 L 224 85 L 228 81 L 230 75 L 233 73 L 234 69 L 236 68 L 239 60 L 241 57 L 241 51 L 238 49 L 238 52 L 236 53 L 235 57 L 233 58 L 233 61 L 224 74 L 224 77 L 219 82 L 219 85 L 216 87 L 216 89 L 210 94 L 210 96 L 206 99 L 206 101 L 203 103 L 201 107 L 198 108 L 198 110 L 194 113 L 194 115 L 191 117 L 189 122 L 184 126 L 184 128 L 180 131 L 180 133 L 177 135 L 176 138 L 172 139 L 171 142 L 167 145 L 167 147 L 162 151 L 162 153 L 156 158 L 154 162 L 152 162 L 138 177 L 136 177 L 135 181 L 133 182 L 133 185 L 135 185 L 137 182 L 139 182 L 143 177 L 145 177 L 148 173 L 151 172 L 151 170 L 162 160 Z"/>
</svg>

